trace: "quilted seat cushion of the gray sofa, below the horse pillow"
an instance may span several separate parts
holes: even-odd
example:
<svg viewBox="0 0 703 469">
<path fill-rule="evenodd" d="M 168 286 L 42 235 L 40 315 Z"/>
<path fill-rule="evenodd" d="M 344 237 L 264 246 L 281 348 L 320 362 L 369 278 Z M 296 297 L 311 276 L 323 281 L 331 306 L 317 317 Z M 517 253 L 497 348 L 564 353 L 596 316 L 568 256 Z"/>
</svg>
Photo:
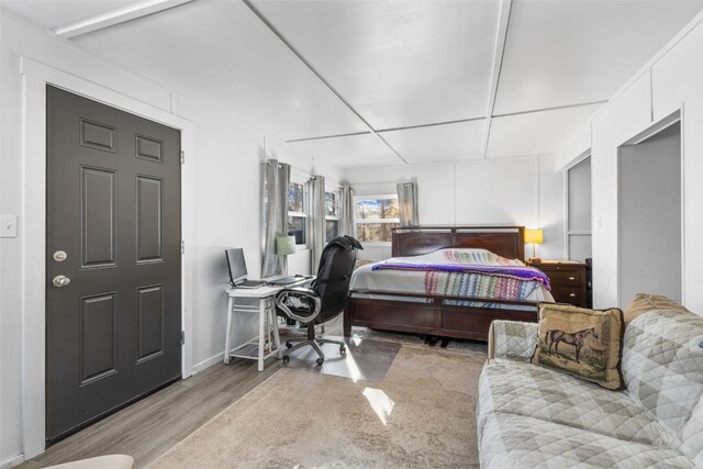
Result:
<svg viewBox="0 0 703 469">
<path fill-rule="evenodd" d="M 494 413 L 553 422 L 658 447 L 674 436 L 625 392 L 603 389 L 528 362 L 501 360 L 483 368 L 477 410 L 479 434 Z"/>
</svg>

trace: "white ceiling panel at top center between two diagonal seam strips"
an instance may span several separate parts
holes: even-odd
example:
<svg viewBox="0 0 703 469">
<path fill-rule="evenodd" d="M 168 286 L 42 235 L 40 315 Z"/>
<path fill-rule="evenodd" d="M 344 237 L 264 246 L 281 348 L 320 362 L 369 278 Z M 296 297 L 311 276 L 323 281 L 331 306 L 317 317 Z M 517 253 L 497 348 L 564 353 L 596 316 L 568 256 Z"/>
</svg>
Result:
<svg viewBox="0 0 703 469">
<path fill-rule="evenodd" d="M 254 3 L 376 130 L 486 115 L 500 2 Z"/>
</svg>

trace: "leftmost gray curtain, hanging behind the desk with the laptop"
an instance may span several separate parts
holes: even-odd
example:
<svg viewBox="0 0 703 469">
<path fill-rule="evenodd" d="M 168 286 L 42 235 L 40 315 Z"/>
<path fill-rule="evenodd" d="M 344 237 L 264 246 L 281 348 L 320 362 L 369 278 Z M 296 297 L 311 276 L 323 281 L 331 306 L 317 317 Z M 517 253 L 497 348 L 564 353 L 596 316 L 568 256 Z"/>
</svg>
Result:
<svg viewBox="0 0 703 469">
<path fill-rule="evenodd" d="M 276 237 L 288 234 L 290 165 L 268 159 L 261 181 L 261 278 L 286 272 L 286 256 L 276 255 Z"/>
</svg>

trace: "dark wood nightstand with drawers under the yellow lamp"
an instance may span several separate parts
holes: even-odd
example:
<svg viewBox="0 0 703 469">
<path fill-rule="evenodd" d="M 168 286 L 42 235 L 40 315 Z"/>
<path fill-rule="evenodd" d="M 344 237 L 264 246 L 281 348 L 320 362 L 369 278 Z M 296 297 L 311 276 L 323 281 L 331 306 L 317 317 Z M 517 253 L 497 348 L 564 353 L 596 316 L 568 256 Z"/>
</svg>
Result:
<svg viewBox="0 0 703 469">
<path fill-rule="evenodd" d="M 554 301 L 588 308 L 585 264 L 542 261 L 529 265 L 549 277 Z"/>
</svg>

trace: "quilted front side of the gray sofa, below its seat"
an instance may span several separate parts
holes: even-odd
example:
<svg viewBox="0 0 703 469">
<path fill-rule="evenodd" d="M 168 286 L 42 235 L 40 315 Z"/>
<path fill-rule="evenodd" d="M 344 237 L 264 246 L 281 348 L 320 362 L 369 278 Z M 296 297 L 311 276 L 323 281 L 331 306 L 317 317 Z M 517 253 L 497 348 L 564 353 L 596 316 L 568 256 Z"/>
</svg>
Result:
<svg viewBox="0 0 703 469">
<path fill-rule="evenodd" d="M 483 469 L 694 467 L 676 449 L 624 442 L 515 414 L 490 414 L 480 435 Z"/>
</svg>

